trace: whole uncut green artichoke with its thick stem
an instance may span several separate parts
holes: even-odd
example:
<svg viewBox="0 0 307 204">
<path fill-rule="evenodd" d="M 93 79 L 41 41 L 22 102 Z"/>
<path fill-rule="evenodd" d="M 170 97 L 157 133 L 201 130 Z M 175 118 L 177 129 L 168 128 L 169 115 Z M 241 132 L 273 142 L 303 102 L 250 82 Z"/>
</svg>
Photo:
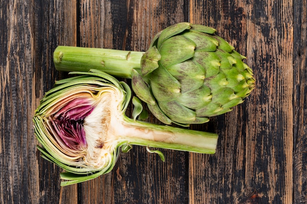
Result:
<svg viewBox="0 0 307 204">
<path fill-rule="evenodd" d="M 231 111 L 255 87 L 244 56 L 215 29 L 179 23 L 158 33 L 143 52 L 59 46 L 58 70 L 101 69 L 132 79 L 132 89 L 163 123 L 205 123 Z"/>
</svg>

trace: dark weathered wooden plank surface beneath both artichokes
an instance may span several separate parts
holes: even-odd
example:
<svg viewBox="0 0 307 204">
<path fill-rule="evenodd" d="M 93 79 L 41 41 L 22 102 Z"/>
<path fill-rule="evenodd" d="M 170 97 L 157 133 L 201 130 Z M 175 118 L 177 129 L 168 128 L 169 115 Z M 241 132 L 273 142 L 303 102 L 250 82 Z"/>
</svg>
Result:
<svg viewBox="0 0 307 204">
<path fill-rule="evenodd" d="M 109 174 L 60 187 L 32 123 L 67 77 L 55 47 L 145 51 L 179 22 L 216 28 L 255 72 L 243 104 L 191 126 L 219 134 L 217 153 L 162 150 L 162 162 L 135 146 Z M 0 204 L 306 204 L 306 68 L 306 0 L 0 0 Z"/>
</svg>

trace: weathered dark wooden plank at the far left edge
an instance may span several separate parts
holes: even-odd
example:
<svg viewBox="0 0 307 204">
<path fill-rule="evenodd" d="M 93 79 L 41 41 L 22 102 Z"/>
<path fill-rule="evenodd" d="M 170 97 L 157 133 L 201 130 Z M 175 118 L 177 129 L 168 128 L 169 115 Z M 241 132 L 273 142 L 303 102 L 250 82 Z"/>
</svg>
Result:
<svg viewBox="0 0 307 204">
<path fill-rule="evenodd" d="M 0 203 L 77 203 L 59 187 L 58 167 L 36 155 L 32 117 L 57 72 L 59 42 L 76 45 L 76 1 L 1 1 Z M 65 30 L 63 30 L 65 25 Z M 67 29 L 66 29 L 67 28 Z M 62 198 L 60 198 L 62 196 Z"/>
</svg>

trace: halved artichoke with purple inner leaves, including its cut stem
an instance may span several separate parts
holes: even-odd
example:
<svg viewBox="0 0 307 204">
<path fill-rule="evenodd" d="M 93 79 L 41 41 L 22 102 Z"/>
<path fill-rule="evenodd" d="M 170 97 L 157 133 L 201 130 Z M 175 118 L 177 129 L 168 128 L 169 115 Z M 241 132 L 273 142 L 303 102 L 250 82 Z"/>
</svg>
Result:
<svg viewBox="0 0 307 204">
<path fill-rule="evenodd" d="M 156 125 L 125 115 L 131 90 L 124 82 L 97 69 L 72 72 L 57 81 L 41 100 L 33 118 L 43 158 L 64 170 L 61 185 L 94 179 L 108 173 L 122 152 L 132 145 L 197 153 L 215 153 L 217 135 Z M 133 118 L 142 113 L 134 98 Z"/>
</svg>

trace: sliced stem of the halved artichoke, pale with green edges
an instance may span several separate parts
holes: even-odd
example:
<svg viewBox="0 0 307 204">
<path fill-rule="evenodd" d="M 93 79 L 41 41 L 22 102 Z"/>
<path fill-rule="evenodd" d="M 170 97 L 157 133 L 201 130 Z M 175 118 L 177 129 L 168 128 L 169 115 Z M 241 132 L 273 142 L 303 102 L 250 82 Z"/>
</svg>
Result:
<svg viewBox="0 0 307 204">
<path fill-rule="evenodd" d="M 205 154 L 215 153 L 218 139 L 213 133 L 134 121 L 127 117 L 117 130 L 122 130 L 118 133 L 120 140 L 131 145 Z"/>
</svg>

